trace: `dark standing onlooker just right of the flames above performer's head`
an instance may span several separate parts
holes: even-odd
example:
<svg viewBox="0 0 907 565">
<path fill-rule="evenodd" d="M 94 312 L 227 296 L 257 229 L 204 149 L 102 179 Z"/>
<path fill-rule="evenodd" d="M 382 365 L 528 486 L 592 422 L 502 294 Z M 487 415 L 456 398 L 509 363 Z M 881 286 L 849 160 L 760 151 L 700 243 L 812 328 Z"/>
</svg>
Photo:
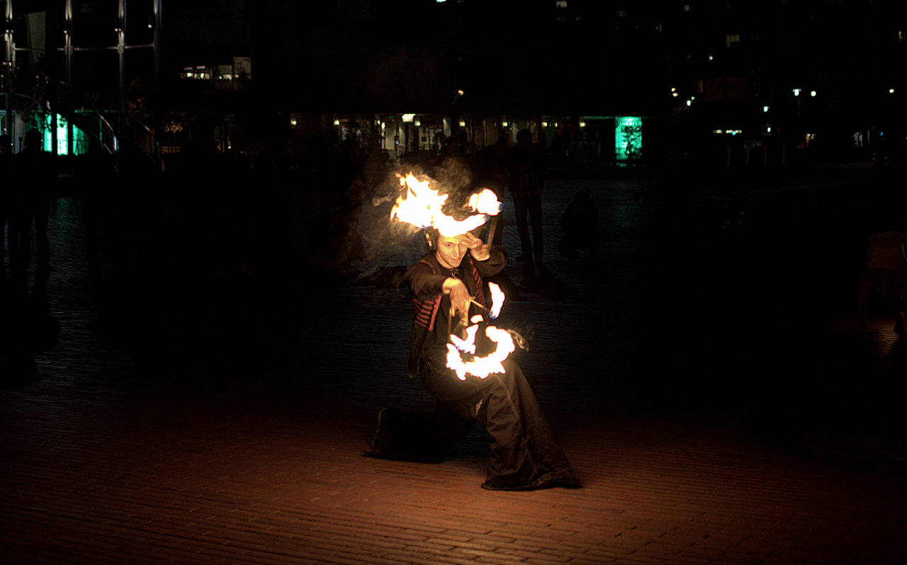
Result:
<svg viewBox="0 0 907 565">
<path fill-rule="evenodd" d="M 526 263 L 527 271 L 532 270 L 533 264 L 541 266 L 544 255 L 541 192 L 544 188 L 542 173 L 546 161 L 544 148 L 532 141 L 532 132 L 529 130 L 520 130 L 516 134 L 516 145 L 506 154 L 516 230 L 520 234 L 522 251 L 522 255 L 516 260 Z M 529 236 L 529 224 L 532 224 L 532 239 Z"/>
</svg>

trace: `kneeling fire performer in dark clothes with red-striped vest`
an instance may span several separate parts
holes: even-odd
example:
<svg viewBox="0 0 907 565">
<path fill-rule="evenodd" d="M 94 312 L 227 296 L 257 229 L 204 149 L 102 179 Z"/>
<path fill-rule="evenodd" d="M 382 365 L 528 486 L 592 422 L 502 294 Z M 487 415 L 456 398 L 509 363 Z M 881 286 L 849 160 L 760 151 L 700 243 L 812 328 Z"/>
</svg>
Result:
<svg viewBox="0 0 907 565">
<path fill-rule="evenodd" d="M 491 459 L 483 489 L 532 490 L 568 482 L 572 469 L 519 365 L 502 361 L 503 372 L 465 378 L 447 368 L 448 344 L 466 320 L 485 313 L 483 277 L 502 271 L 506 252 L 472 233 L 445 237 L 428 229 L 429 253 L 406 271 L 413 301 L 409 373 L 419 375 L 438 408 L 424 417 L 393 408 L 382 411 L 371 456 L 440 460 L 473 423 L 491 435 Z M 478 332 L 483 334 L 483 332 Z M 476 355 L 493 348 L 490 339 Z M 394 420 L 390 422 L 389 420 Z M 388 455 L 393 443 L 433 454 Z"/>
</svg>

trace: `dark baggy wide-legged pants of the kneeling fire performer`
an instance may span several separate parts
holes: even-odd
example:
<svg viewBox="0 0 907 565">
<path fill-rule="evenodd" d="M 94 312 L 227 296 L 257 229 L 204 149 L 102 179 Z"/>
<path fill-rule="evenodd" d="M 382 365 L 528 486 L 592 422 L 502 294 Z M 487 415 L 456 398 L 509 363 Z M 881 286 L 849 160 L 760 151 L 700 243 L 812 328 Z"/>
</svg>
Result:
<svg viewBox="0 0 907 565">
<path fill-rule="evenodd" d="M 461 381 L 444 365 L 436 369 L 425 363 L 423 384 L 437 399 L 438 408 L 388 414 L 394 422 L 384 424 L 392 429 L 384 434 L 379 429 L 378 435 L 384 437 L 375 441 L 385 444 L 375 447 L 379 451 L 383 447 L 385 455 L 394 453 L 391 459 L 440 461 L 474 422 L 480 422 L 492 440 L 484 488 L 532 489 L 566 477 L 572 472 L 570 462 L 551 433 L 532 387 L 519 365 L 507 360 L 503 366 L 503 374 L 485 379 L 468 375 Z"/>
</svg>

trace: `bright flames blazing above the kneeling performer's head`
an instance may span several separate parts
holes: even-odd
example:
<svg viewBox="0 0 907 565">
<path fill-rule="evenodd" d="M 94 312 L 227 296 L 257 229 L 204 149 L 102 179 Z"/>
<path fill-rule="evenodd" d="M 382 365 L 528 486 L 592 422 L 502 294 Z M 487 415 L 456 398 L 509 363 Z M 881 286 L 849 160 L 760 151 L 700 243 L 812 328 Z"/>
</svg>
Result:
<svg viewBox="0 0 907 565">
<path fill-rule="evenodd" d="M 397 175 L 404 188 L 391 209 L 391 219 L 399 219 L 418 228 L 434 228 L 448 238 L 476 229 L 488 221 L 488 216 L 501 213 L 502 204 L 492 190 L 483 189 L 473 194 L 466 209 L 475 212 L 466 219 L 448 216 L 441 208 L 447 201 L 447 194 L 439 194 L 431 188 L 431 180 L 418 180 L 412 172 L 405 177 Z"/>
</svg>

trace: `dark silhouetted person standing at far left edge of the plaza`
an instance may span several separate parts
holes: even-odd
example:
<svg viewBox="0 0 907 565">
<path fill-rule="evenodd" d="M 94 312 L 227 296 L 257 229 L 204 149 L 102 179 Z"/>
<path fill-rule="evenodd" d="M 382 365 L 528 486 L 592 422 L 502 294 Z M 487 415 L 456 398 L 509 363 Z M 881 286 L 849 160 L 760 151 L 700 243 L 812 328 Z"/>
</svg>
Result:
<svg viewBox="0 0 907 565">
<path fill-rule="evenodd" d="M 15 154 L 17 219 L 17 255 L 13 278 L 20 284 L 28 282 L 32 259 L 31 232 L 34 224 L 35 284 L 44 285 L 50 276 L 51 246 L 47 236 L 50 218 L 50 199 L 56 180 L 54 156 L 41 149 L 43 136 L 36 129 L 25 132 L 24 149 Z"/>
</svg>

